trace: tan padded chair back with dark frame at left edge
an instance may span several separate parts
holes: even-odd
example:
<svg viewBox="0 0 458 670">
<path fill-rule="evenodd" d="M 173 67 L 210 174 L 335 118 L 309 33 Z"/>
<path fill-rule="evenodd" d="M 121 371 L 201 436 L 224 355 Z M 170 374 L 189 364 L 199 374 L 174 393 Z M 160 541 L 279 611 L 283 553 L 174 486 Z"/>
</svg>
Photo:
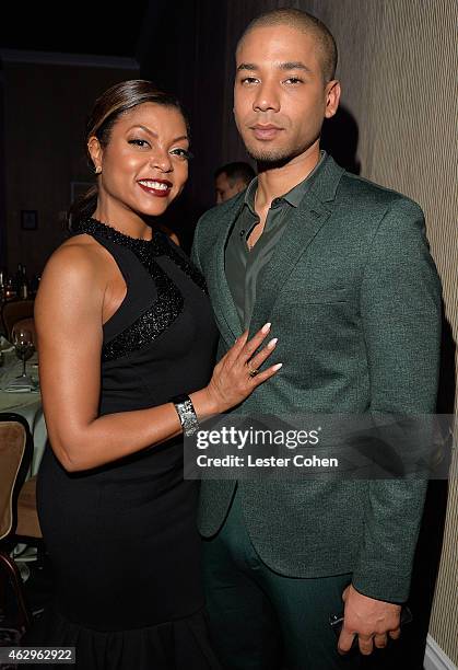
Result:
<svg viewBox="0 0 458 670">
<path fill-rule="evenodd" d="M 33 439 L 24 417 L 0 413 L 0 540 L 16 524 L 16 500 L 33 453 Z"/>
</svg>

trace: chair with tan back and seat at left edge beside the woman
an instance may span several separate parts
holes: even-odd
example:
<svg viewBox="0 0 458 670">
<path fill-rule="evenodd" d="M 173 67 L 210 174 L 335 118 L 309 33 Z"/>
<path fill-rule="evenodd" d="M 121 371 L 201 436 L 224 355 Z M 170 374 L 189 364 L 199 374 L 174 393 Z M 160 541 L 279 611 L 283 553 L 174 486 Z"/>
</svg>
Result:
<svg viewBox="0 0 458 670">
<path fill-rule="evenodd" d="M 13 588 L 17 616 L 12 627 L 17 639 L 31 624 L 24 586 L 11 552 L 17 542 L 37 544 L 42 540 L 36 511 L 36 477 L 25 481 L 33 454 L 28 424 L 19 414 L 0 414 L 0 589 Z"/>
</svg>

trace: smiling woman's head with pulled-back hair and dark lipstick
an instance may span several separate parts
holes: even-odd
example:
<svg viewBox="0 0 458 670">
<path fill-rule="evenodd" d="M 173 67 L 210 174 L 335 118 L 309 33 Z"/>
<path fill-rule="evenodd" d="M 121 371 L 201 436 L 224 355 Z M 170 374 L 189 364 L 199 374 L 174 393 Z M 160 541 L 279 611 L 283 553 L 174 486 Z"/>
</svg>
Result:
<svg viewBox="0 0 458 670">
<path fill-rule="evenodd" d="M 187 181 L 188 149 L 189 125 L 174 96 L 140 79 L 110 86 L 86 124 L 96 183 L 72 206 L 71 224 L 92 216 L 155 224 Z"/>
</svg>

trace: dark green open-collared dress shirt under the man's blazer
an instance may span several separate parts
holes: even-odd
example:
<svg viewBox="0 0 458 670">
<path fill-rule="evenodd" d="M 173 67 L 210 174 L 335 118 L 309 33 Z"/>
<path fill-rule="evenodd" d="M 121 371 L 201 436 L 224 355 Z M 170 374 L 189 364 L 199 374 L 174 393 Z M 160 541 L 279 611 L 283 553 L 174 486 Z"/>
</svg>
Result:
<svg viewBox="0 0 458 670">
<path fill-rule="evenodd" d="M 244 206 L 232 229 L 224 256 L 227 284 L 244 328 L 248 328 L 251 321 L 259 273 L 272 257 L 292 212 L 309 188 L 310 177 L 319 170 L 325 155 L 326 152 L 321 151 L 317 165 L 303 182 L 272 200 L 262 234 L 251 250 L 248 247 L 248 238 L 259 222 L 255 211 L 258 177 L 246 189 Z"/>
</svg>

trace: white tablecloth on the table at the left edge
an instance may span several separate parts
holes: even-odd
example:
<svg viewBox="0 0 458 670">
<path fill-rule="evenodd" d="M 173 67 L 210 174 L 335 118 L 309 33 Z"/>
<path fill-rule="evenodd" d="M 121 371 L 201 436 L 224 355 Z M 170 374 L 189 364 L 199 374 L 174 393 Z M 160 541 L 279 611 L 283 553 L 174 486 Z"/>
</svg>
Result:
<svg viewBox="0 0 458 670">
<path fill-rule="evenodd" d="M 21 414 L 28 423 L 34 438 L 34 453 L 30 476 L 38 472 L 39 463 L 45 451 L 47 430 L 43 416 L 42 396 L 38 393 L 10 393 L 4 391 L 8 383 L 22 373 L 22 362 L 16 358 L 14 350 L 3 350 L 3 365 L 0 367 L 0 412 L 14 412 Z M 26 372 L 32 379 L 38 379 L 37 355 L 27 361 Z"/>
</svg>

